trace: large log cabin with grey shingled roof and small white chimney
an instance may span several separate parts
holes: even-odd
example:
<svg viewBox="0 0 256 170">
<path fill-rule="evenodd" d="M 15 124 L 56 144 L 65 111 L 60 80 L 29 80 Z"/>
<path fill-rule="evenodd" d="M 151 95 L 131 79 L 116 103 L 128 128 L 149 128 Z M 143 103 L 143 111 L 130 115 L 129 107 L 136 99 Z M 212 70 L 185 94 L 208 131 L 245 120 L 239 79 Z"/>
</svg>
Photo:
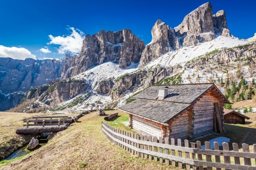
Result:
<svg viewBox="0 0 256 170">
<path fill-rule="evenodd" d="M 134 130 L 159 137 L 193 139 L 223 133 L 225 96 L 212 83 L 152 85 L 119 110 Z"/>
</svg>

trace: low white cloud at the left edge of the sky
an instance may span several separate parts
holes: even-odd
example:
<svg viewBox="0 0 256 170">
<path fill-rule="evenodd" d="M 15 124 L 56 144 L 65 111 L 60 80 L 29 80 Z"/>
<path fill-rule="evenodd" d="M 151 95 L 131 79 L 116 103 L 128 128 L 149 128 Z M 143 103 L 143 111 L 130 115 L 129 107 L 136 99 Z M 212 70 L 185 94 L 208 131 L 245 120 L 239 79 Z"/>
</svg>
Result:
<svg viewBox="0 0 256 170">
<path fill-rule="evenodd" d="M 13 59 L 35 59 L 35 55 L 31 54 L 31 52 L 26 48 L 6 47 L 3 45 L 0 45 L 0 57 L 11 57 Z"/>
</svg>

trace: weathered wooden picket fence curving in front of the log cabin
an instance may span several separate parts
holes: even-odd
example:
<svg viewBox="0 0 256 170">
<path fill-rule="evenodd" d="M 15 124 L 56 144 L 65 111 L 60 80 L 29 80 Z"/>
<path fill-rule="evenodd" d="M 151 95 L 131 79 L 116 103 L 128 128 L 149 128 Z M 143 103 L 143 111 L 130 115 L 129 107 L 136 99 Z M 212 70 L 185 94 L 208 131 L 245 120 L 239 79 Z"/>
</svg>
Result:
<svg viewBox="0 0 256 170">
<path fill-rule="evenodd" d="M 186 170 L 203 170 L 204 167 L 207 170 L 212 170 L 212 167 L 216 170 L 256 170 L 256 144 L 253 144 L 254 153 L 250 153 L 248 144 L 242 144 L 243 151 L 239 152 L 238 144 L 233 143 L 233 151 L 230 151 L 226 142 L 222 144 L 223 150 L 220 150 L 218 142 L 214 142 L 215 150 L 211 150 L 210 143 L 205 142 L 203 150 L 200 141 L 189 144 L 188 140 L 182 142 L 181 139 L 176 142 L 173 138 L 169 141 L 168 138 L 160 137 L 157 140 L 156 136 L 137 136 L 113 128 L 105 122 L 102 122 L 102 131 L 111 142 L 128 152 L 145 159 L 171 164 L 172 167 Z"/>
</svg>

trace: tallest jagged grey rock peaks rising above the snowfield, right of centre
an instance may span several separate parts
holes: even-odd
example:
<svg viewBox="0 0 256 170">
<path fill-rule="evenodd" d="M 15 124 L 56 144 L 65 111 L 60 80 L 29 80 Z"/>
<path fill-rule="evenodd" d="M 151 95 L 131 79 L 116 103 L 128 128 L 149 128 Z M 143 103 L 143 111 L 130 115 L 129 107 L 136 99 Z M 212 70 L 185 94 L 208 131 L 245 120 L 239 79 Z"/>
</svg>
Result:
<svg viewBox="0 0 256 170">
<path fill-rule="evenodd" d="M 221 10 L 213 15 L 210 3 L 205 3 L 187 14 L 182 23 L 174 29 L 163 21 L 157 20 L 151 34 L 152 40 L 145 46 L 140 59 L 140 67 L 169 51 L 211 41 L 219 34 L 231 37 L 227 29 L 225 12 Z"/>
</svg>

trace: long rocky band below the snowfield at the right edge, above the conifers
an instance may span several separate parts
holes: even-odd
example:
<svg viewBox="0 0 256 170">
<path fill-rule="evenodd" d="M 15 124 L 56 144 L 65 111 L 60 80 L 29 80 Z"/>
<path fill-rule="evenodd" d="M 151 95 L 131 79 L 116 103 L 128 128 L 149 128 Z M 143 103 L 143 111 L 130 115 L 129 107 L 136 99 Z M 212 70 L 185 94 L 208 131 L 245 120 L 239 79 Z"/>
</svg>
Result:
<svg viewBox="0 0 256 170">
<path fill-rule="evenodd" d="M 186 63 L 186 68 L 223 71 L 240 64 L 256 62 L 256 43 L 217 50 L 212 54 L 195 58 Z"/>
</svg>

